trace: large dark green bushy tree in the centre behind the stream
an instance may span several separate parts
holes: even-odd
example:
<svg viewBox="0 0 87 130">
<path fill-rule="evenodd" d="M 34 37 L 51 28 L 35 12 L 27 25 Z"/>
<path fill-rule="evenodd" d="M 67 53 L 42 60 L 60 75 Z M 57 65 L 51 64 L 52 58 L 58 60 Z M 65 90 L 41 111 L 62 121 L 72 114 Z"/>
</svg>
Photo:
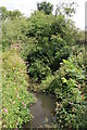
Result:
<svg viewBox="0 0 87 130">
<path fill-rule="evenodd" d="M 64 15 L 55 17 L 35 12 L 27 22 L 26 36 L 29 43 L 23 47 L 23 51 L 30 64 L 29 75 L 35 81 L 40 81 L 48 74 L 55 72 L 63 58 L 69 57 L 78 34 L 73 23 L 66 21 Z"/>
</svg>

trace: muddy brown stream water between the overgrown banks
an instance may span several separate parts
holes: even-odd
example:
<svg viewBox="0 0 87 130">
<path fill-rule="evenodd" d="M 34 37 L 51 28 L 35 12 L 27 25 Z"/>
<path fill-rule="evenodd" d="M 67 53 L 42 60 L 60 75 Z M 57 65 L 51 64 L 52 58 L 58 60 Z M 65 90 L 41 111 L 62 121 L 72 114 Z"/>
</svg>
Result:
<svg viewBox="0 0 87 130">
<path fill-rule="evenodd" d="M 37 102 L 29 107 L 34 119 L 32 122 L 27 122 L 24 128 L 44 127 L 45 122 L 50 123 L 55 119 L 53 116 L 55 108 L 53 98 L 44 93 L 35 93 L 35 96 L 37 98 Z"/>
</svg>

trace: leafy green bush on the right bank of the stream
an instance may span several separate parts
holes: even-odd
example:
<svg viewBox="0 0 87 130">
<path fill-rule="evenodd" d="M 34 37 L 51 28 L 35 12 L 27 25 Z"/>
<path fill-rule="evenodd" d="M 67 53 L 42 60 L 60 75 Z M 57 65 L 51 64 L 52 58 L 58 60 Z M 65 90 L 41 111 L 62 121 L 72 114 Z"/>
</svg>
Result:
<svg viewBox="0 0 87 130">
<path fill-rule="evenodd" d="M 62 129 L 86 129 L 87 94 L 83 53 L 63 60 L 54 76 L 42 80 L 40 88 L 55 93 L 58 125 Z"/>
</svg>

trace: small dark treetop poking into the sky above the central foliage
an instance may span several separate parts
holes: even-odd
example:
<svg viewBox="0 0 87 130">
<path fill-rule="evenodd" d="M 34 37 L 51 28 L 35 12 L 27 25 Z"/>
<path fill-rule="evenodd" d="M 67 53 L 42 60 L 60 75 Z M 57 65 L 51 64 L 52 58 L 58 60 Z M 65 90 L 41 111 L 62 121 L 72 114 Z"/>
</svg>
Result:
<svg viewBox="0 0 87 130">
<path fill-rule="evenodd" d="M 53 4 L 51 4 L 50 2 L 40 2 L 40 3 L 37 3 L 37 9 L 39 11 L 44 11 L 45 14 L 51 14 L 52 13 L 52 10 L 53 10 Z"/>
</svg>

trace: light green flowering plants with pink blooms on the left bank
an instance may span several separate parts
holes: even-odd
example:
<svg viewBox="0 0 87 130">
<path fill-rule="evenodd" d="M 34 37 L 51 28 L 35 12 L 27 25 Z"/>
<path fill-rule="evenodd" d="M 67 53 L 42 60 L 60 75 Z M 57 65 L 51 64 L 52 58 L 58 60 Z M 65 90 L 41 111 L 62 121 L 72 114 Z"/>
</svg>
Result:
<svg viewBox="0 0 87 130">
<path fill-rule="evenodd" d="M 2 54 L 2 126 L 3 128 L 22 127 L 33 118 L 28 105 L 33 94 L 27 91 L 26 66 L 14 51 Z"/>
</svg>

